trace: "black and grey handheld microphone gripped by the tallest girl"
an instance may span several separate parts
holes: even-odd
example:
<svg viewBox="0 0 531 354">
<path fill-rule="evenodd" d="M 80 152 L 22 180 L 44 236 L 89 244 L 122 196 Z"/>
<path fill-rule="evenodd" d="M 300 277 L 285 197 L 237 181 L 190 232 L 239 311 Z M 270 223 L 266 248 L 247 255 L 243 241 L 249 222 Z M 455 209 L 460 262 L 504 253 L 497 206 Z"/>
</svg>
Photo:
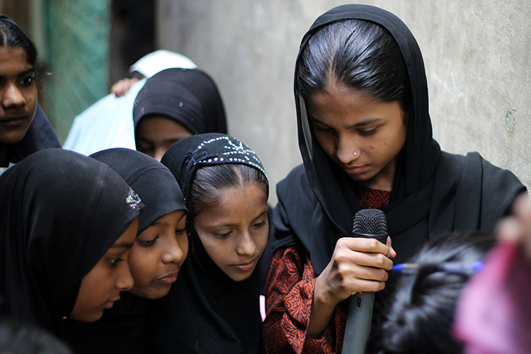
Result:
<svg viewBox="0 0 531 354">
<path fill-rule="evenodd" d="M 362 209 L 354 215 L 353 237 L 387 241 L 387 219 L 379 209 Z M 348 318 L 343 340 L 343 354 L 365 354 L 370 335 L 374 292 L 358 292 L 350 296 Z"/>
</svg>

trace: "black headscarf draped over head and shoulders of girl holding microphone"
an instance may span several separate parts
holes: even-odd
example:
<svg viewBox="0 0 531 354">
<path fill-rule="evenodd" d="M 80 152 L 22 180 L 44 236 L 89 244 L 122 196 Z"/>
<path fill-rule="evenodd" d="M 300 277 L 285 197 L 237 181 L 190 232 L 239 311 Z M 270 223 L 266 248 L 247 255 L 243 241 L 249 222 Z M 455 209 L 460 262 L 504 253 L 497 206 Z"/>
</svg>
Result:
<svg viewBox="0 0 531 354">
<path fill-rule="evenodd" d="M 338 169 L 313 135 L 304 98 L 297 88 L 301 53 L 309 38 L 336 21 L 358 19 L 377 23 L 396 40 L 411 82 L 411 103 L 404 149 L 394 178 L 391 202 L 381 209 L 397 256 L 410 258 L 430 236 L 454 229 L 492 230 L 525 187 L 513 173 L 496 168 L 477 153 L 467 156 L 440 152 L 432 137 L 428 87 L 421 51 L 413 34 L 392 13 L 368 5 L 343 5 L 316 19 L 304 35 L 295 67 L 295 101 L 299 147 L 304 168 L 295 168 L 278 184 L 273 224 L 274 246 L 302 241 L 320 274 L 329 263 L 336 241 L 350 236 L 353 216 L 361 209 L 346 173 Z M 380 295 L 392 288 L 391 276 Z"/>
</svg>

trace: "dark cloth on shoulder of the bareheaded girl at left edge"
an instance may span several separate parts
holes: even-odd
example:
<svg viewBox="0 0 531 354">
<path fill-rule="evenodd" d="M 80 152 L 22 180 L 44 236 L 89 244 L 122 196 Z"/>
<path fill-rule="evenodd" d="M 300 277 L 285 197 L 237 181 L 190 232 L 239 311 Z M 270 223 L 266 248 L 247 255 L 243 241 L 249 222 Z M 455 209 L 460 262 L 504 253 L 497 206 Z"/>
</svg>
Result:
<svg viewBox="0 0 531 354">
<path fill-rule="evenodd" d="M 0 147 L 7 150 L 8 162 L 16 164 L 34 152 L 59 148 L 61 144 L 50 121 L 42 111 L 42 108 L 40 108 L 40 105 L 37 104 L 33 121 L 21 141 L 15 144 L 0 144 Z"/>
</svg>

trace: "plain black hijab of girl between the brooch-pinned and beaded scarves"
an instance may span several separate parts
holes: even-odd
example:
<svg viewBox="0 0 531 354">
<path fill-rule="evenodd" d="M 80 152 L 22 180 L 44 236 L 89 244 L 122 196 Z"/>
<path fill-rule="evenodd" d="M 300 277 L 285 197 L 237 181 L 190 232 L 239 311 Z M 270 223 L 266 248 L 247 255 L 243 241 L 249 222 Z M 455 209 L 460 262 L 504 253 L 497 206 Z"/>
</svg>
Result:
<svg viewBox="0 0 531 354">
<path fill-rule="evenodd" d="M 144 203 L 138 233 L 156 220 L 177 210 L 186 210 L 183 193 L 169 169 L 136 150 L 115 148 L 92 154 L 116 171 Z M 142 353 L 143 332 L 149 300 L 129 292 L 94 323 L 67 321 L 69 342 L 76 353 Z"/>
</svg>

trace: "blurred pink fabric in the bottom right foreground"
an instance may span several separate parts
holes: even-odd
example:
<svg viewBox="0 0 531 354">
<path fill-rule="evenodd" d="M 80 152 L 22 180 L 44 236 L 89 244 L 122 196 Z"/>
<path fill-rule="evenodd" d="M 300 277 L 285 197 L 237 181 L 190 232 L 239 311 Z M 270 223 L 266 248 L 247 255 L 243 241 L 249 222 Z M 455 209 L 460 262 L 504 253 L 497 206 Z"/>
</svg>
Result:
<svg viewBox="0 0 531 354">
<path fill-rule="evenodd" d="M 455 334 L 467 354 L 531 353 L 531 263 L 500 243 L 464 288 Z"/>
</svg>

